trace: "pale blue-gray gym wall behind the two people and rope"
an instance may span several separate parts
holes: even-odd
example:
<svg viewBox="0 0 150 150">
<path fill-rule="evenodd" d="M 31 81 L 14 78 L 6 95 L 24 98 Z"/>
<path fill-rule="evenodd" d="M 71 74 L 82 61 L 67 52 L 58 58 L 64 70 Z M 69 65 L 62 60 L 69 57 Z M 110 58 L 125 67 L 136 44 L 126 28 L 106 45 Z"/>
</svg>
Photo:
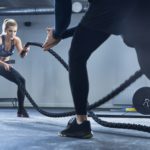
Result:
<svg viewBox="0 0 150 150">
<path fill-rule="evenodd" d="M 83 14 L 74 14 L 72 24 L 76 25 Z M 54 26 L 53 15 L 35 16 L 3 16 L 14 18 L 19 24 L 18 36 L 23 43 L 28 41 L 44 42 L 46 27 Z M 23 23 L 31 21 L 31 27 Z M 90 36 L 90 35 L 89 35 Z M 68 49 L 71 38 L 63 40 L 54 50 L 67 62 Z M 48 52 L 31 47 L 25 59 L 13 56 L 16 64 L 13 65 L 26 79 L 26 87 L 33 99 L 46 107 L 72 107 L 72 97 L 68 82 L 68 73 L 59 62 Z M 93 53 L 88 61 L 90 80 L 89 102 L 93 103 L 107 95 L 124 80 L 139 69 L 135 50 L 127 47 L 119 36 L 111 36 L 98 50 Z M 0 77 L 0 97 L 16 97 L 16 85 Z M 149 86 L 150 82 L 142 76 L 124 92 L 103 107 L 113 107 L 114 104 L 131 104 L 134 92 L 141 86 Z M 0 103 L 0 106 L 3 105 Z M 9 105 L 9 104 L 8 104 Z M 26 105 L 30 106 L 28 100 Z"/>
</svg>

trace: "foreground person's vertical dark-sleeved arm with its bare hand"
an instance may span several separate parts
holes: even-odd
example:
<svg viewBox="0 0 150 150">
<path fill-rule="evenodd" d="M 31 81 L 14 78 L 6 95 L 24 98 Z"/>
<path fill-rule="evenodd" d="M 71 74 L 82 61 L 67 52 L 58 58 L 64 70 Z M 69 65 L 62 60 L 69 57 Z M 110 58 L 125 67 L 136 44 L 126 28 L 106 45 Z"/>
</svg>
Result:
<svg viewBox="0 0 150 150">
<path fill-rule="evenodd" d="M 71 0 L 55 0 L 55 29 L 47 29 L 47 37 L 43 44 L 44 50 L 52 48 L 62 39 L 63 33 L 70 24 L 71 11 Z"/>
</svg>

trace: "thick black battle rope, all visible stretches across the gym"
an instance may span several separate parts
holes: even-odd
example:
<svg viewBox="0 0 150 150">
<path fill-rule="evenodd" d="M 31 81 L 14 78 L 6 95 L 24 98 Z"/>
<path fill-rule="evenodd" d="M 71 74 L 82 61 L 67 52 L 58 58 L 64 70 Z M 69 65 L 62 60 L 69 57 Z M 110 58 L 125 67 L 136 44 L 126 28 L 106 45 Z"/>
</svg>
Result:
<svg viewBox="0 0 150 150">
<path fill-rule="evenodd" d="M 35 42 L 28 42 L 26 44 L 26 46 L 29 46 L 29 45 L 42 47 L 41 43 L 35 43 Z M 66 62 L 56 52 L 54 52 L 52 49 L 49 49 L 48 52 L 51 53 L 66 68 L 66 70 L 68 70 L 68 65 L 66 64 Z M 110 99 L 112 99 L 113 97 L 117 96 L 120 92 L 125 90 L 130 84 L 132 84 L 134 81 L 136 81 L 142 75 L 143 75 L 143 73 L 141 70 L 137 71 L 134 75 L 132 75 L 128 80 L 126 80 L 123 84 L 121 84 L 118 88 L 116 88 L 110 94 L 108 94 L 104 98 L 100 99 L 98 102 L 89 105 L 88 106 L 89 116 L 91 116 L 98 124 L 105 126 L 105 127 L 134 129 L 134 130 L 139 130 L 139 131 L 144 131 L 144 132 L 150 132 L 150 127 L 144 126 L 144 125 L 112 123 L 112 122 L 103 121 L 103 120 L 99 119 L 92 111 L 90 111 L 91 109 L 96 108 L 97 106 L 100 106 L 100 105 L 104 104 L 105 102 L 109 101 Z M 66 116 L 75 115 L 75 111 L 64 112 L 64 113 L 50 113 L 50 112 L 43 111 L 34 102 L 34 100 L 30 96 L 30 94 L 27 92 L 27 90 L 26 89 L 22 89 L 22 90 L 25 92 L 25 95 L 29 99 L 31 104 L 43 115 L 46 115 L 48 117 L 66 117 Z"/>
</svg>

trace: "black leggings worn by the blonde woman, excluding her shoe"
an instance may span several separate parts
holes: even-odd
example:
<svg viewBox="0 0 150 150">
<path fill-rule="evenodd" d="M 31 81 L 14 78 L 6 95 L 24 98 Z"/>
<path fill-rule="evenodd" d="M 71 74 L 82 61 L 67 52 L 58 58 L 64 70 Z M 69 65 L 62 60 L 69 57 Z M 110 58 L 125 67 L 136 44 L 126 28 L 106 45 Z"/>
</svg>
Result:
<svg viewBox="0 0 150 150">
<path fill-rule="evenodd" d="M 25 88 L 25 79 L 14 68 L 11 67 L 9 71 L 6 71 L 5 68 L 1 65 L 0 65 L 0 75 L 11 82 L 14 82 L 18 86 L 17 90 L 18 106 L 19 109 L 22 109 L 24 107 L 25 94 L 21 91 L 19 82 L 21 83 L 22 88 Z M 16 78 L 18 80 L 16 80 Z"/>
</svg>

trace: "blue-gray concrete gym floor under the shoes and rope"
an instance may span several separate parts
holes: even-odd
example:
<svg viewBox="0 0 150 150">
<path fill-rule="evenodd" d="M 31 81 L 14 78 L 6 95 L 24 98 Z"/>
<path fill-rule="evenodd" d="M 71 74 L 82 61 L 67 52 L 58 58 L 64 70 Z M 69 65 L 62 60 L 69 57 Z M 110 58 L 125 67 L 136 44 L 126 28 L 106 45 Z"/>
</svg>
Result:
<svg viewBox="0 0 150 150">
<path fill-rule="evenodd" d="M 0 108 L 0 150 L 149 150 L 150 133 L 102 127 L 91 118 L 94 137 L 59 137 L 70 117 L 49 118 L 28 109 L 30 118 L 16 117 L 15 108 Z M 108 112 L 110 113 L 110 112 Z M 111 112 L 112 114 L 114 112 Z M 150 119 L 103 118 L 150 126 Z"/>
</svg>

